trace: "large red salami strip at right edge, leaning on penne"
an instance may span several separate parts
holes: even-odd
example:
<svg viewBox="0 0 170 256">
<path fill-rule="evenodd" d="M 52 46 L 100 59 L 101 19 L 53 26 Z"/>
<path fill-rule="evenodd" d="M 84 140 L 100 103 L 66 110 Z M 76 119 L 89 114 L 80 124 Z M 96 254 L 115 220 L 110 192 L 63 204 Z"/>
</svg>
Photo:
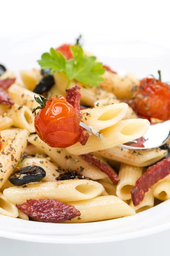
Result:
<svg viewBox="0 0 170 256">
<path fill-rule="evenodd" d="M 131 189 L 131 197 L 134 206 L 137 206 L 144 199 L 144 194 L 159 180 L 170 174 L 170 157 L 165 158 L 156 165 L 147 169 L 139 179 L 136 180 L 135 186 Z"/>
</svg>

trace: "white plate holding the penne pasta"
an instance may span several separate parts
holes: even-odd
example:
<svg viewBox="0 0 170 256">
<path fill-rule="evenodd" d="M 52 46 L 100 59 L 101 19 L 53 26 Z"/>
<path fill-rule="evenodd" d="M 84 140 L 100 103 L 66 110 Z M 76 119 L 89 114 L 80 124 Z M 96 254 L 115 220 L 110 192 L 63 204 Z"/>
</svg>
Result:
<svg viewBox="0 0 170 256">
<path fill-rule="evenodd" d="M 57 36 L 56 36 L 57 35 Z M 63 42 L 73 43 L 77 35 L 40 33 L 1 38 L 0 63 L 18 71 L 38 67 L 36 60 L 50 47 Z M 59 40 L 58 40 L 59 38 Z M 69 40 L 70 38 L 70 40 Z M 164 81 L 169 81 L 170 50 L 146 42 L 113 41 L 113 37 L 85 35 L 85 48 L 94 52 L 105 64 L 121 74 L 135 73 L 144 77 L 162 70 Z M 0 215 L 0 236 L 44 243 L 99 243 L 120 241 L 158 233 L 170 228 L 170 200 L 134 216 L 83 224 L 51 224 Z"/>
</svg>

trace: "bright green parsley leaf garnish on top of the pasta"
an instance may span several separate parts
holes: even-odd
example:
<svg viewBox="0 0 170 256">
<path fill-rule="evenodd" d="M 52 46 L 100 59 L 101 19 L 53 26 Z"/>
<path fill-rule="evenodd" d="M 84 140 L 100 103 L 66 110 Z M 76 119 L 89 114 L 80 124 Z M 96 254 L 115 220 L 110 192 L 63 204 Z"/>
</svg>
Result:
<svg viewBox="0 0 170 256">
<path fill-rule="evenodd" d="M 42 69 L 50 68 L 51 73 L 64 73 L 68 77 L 68 85 L 73 79 L 95 86 L 99 85 L 99 81 L 104 81 L 102 74 L 105 68 L 102 63 L 96 62 L 95 56 L 86 56 L 78 45 L 72 45 L 71 51 L 73 59 L 67 61 L 61 52 L 51 48 L 50 53 L 42 54 L 38 63 Z"/>
</svg>

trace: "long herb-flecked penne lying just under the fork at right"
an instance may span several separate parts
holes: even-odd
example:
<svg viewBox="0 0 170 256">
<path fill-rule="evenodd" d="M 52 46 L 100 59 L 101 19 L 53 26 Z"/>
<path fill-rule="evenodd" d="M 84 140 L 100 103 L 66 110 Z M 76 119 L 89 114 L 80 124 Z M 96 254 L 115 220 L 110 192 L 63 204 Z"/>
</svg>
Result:
<svg viewBox="0 0 170 256">
<path fill-rule="evenodd" d="M 126 148 L 114 147 L 98 151 L 97 153 L 107 159 L 143 167 L 161 160 L 167 154 L 167 151 L 160 148 L 146 151 L 133 151 Z"/>
</svg>

